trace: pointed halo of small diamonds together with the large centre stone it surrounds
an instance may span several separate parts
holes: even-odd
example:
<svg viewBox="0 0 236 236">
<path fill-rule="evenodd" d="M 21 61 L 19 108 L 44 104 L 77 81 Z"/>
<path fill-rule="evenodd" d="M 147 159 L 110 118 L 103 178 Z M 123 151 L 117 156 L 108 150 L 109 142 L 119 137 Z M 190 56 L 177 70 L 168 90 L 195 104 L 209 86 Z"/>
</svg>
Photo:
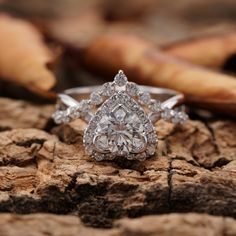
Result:
<svg viewBox="0 0 236 236">
<path fill-rule="evenodd" d="M 88 138 L 91 133 L 94 134 L 93 140 Z M 156 142 L 151 121 L 142 107 L 124 91 L 115 93 L 104 102 L 84 135 L 84 145 L 93 149 L 92 156 L 99 156 L 99 159 L 106 159 L 109 155 L 142 160 L 150 156 L 148 146 L 155 150 Z"/>
</svg>

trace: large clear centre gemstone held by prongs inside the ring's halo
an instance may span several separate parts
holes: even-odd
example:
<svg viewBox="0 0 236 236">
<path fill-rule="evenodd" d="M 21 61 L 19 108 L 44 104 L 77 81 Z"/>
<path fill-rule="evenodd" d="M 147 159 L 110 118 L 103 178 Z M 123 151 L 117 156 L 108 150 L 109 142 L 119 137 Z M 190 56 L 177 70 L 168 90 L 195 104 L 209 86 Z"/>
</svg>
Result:
<svg viewBox="0 0 236 236">
<path fill-rule="evenodd" d="M 94 145 L 101 152 L 109 149 L 116 155 L 127 155 L 145 149 L 146 139 L 143 124 L 136 114 L 122 105 L 117 106 L 110 115 L 105 115 L 97 124 Z"/>
</svg>

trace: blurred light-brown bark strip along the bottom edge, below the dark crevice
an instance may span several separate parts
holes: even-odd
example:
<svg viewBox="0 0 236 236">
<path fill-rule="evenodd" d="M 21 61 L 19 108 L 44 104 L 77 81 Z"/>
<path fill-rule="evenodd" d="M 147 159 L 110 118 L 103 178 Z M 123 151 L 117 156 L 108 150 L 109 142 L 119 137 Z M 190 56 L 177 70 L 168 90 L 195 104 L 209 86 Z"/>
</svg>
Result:
<svg viewBox="0 0 236 236">
<path fill-rule="evenodd" d="M 147 225 L 149 227 L 146 227 Z M 0 226 L 0 234 L 4 236 L 234 236 L 236 234 L 235 220 L 231 218 L 193 213 L 125 218 L 116 221 L 112 229 L 85 227 L 76 216 L 2 214 Z"/>
</svg>

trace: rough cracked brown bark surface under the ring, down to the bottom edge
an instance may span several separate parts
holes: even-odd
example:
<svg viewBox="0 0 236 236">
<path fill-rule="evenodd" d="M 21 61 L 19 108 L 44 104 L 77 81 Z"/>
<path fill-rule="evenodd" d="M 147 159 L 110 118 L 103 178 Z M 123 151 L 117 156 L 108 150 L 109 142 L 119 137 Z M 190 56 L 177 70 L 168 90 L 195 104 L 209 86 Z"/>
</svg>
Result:
<svg viewBox="0 0 236 236">
<path fill-rule="evenodd" d="M 43 235 L 46 224 L 52 235 L 164 235 L 168 230 L 176 235 L 235 235 L 236 122 L 190 120 L 174 127 L 160 121 L 155 157 L 98 163 L 84 154 L 85 124 L 55 126 L 52 110 L 50 105 L 0 99 L 0 211 L 76 216 L 2 214 L 0 229 L 6 235 L 16 235 L 21 226 L 22 235 L 34 226 Z M 209 215 L 117 222 L 173 212 Z M 87 226 L 113 229 L 84 228 L 78 217 Z"/>
</svg>

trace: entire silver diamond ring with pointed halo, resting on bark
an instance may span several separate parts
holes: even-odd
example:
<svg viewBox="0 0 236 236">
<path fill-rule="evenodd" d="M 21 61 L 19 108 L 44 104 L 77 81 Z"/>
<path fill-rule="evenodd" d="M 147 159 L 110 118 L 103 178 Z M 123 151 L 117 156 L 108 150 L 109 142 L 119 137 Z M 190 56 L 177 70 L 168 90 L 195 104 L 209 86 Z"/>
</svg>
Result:
<svg viewBox="0 0 236 236">
<path fill-rule="evenodd" d="M 182 124 L 187 120 L 179 106 L 183 100 L 183 94 L 171 89 L 128 82 L 120 70 L 113 82 L 59 94 L 53 119 L 57 124 L 78 118 L 87 122 L 85 151 L 97 161 L 115 157 L 145 160 L 156 151 L 156 121 Z"/>
</svg>

